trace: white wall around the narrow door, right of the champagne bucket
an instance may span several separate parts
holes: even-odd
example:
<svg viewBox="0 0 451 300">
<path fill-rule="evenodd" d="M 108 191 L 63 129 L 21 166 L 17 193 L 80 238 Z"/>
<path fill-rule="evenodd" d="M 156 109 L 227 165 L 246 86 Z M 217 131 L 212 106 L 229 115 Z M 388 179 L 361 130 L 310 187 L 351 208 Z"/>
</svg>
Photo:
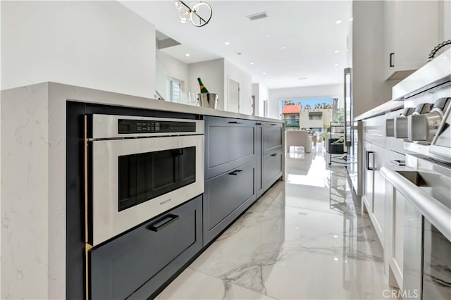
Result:
<svg viewBox="0 0 451 300">
<path fill-rule="evenodd" d="M 224 99 L 228 99 L 229 77 L 240 82 L 240 113 L 252 115 L 252 77 L 241 68 L 230 61 L 224 60 Z M 205 83 L 205 82 L 204 82 Z M 228 111 L 228 101 L 225 102 L 224 110 Z"/>
</svg>

